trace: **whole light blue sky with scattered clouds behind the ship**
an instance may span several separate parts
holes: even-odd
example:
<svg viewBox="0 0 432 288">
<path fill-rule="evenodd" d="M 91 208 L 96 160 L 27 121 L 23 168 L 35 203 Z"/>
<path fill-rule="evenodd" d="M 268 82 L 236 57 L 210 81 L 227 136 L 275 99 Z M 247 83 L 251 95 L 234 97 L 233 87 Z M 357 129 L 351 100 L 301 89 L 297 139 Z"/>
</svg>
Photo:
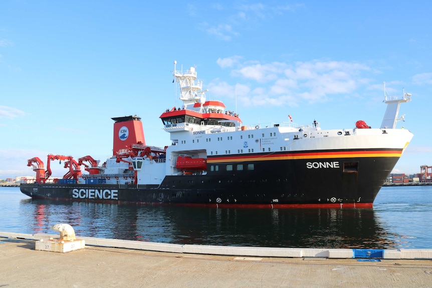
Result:
<svg viewBox="0 0 432 288">
<path fill-rule="evenodd" d="M 377 128 L 390 95 L 414 134 L 393 172 L 432 166 L 432 3 L 425 1 L 0 2 L 0 179 L 27 159 L 112 155 L 112 117 L 142 117 L 147 145 L 179 106 L 177 69 L 195 66 L 207 100 L 244 124 Z M 236 106 L 237 94 L 237 106 Z M 236 110 L 237 109 L 237 110 Z M 53 175 L 67 171 L 51 163 Z"/>
</svg>

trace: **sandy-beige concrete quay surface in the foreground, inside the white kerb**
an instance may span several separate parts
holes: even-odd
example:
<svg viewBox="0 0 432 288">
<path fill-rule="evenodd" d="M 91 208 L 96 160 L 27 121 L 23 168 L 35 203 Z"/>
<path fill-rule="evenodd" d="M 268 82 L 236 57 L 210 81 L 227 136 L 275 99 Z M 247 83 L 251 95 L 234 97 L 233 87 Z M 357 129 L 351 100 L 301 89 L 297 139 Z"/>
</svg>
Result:
<svg viewBox="0 0 432 288">
<path fill-rule="evenodd" d="M 99 245 L 57 253 L 35 250 L 36 241 L 0 237 L 0 287 L 432 287 L 432 259 L 209 255 Z"/>
</svg>

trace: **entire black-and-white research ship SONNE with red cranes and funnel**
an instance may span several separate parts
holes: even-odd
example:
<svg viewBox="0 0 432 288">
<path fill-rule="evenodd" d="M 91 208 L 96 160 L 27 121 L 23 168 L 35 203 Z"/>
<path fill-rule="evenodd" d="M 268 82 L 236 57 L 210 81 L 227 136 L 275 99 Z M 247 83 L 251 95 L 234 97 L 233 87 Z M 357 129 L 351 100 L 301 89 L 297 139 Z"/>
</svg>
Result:
<svg viewBox="0 0 432 288">
<path fill-rule="evenodd" d="M 371 208 L 412 138 L 396 129 L 401 103 L 385 93 L 380 128 L 322 129 L 319 122 L 244 125 L 222 101 L 206 100 L 194 67 L 176 70 L 181 107 L 160 115 L 169 145 L 146 145 L 141 118 L 115 117 L 113 155 L 48 155 L 21 191 L 35 199 L 208 207 Z M 385 89 L 384 89 L 385 91 Z M 354 126 L 354 125 L 353 125 Z M 52 160 L 68 172 L 51 177 Z M 84 168 L 84 169 L 82 169 Z"/>
</svg>

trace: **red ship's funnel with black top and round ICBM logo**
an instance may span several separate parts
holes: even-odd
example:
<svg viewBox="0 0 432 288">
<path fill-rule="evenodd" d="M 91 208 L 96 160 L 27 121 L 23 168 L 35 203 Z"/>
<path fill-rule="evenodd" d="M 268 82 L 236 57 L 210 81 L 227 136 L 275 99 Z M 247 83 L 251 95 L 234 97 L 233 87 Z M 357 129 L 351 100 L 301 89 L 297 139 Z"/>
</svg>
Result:
<svg viewBox="0 0 432 288">
<path fill-rule="evenodd" d="M 141 117 L 124 116 L 111 118 L 114 120 L 113 155 L 123 149 L 129 149 L 132 144 L 145 145 Z"/>
</svg>

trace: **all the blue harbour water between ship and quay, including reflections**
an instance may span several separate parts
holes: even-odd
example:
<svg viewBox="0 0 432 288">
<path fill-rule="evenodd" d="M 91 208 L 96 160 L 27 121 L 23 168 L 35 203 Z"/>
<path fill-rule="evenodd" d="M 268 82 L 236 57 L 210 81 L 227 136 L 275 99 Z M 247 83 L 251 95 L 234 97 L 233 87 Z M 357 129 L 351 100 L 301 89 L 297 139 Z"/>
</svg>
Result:
<svg viewBox="0 0 432 288">
<path fill-rule="evenodd" d="M 383 187 L 373 209 L 216 209 L 32 200 L 0 187 L 0 231 L 176 244 L 432 248 L 432 186 Z"/>
</svg>

